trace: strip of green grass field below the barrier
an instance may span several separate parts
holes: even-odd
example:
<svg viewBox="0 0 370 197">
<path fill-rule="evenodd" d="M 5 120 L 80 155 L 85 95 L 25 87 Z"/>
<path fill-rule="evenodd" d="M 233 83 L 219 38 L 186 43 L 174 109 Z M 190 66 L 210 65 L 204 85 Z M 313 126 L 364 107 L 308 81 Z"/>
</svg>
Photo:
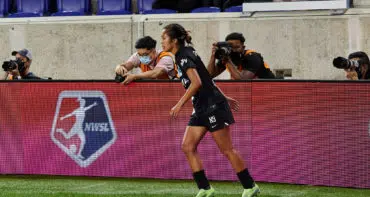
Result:
<svg viewBox="0 0 370 197">
<path fill-rule="evenodd" d="M 214 182 L 216 197 L 241 197 L 237 182 Z M 369 197 L 370 189 L 350 189 L 258 183 L 260 197 Z M 4 197 L 194 197 L 192 181 L 87 178 L 55 176 L 0 176 L 0 196 Z"/>
</svg>

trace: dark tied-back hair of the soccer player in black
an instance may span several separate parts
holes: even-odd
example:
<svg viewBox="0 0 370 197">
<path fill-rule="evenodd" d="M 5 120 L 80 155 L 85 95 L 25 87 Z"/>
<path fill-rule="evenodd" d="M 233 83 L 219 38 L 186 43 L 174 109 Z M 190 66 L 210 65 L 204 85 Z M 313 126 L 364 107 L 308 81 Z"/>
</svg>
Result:
<svg viewBox="0 0 370 197">
<path fill-rule="evenodd" d="M 171 39 L 177 39 L 180 45 L 185 45 L 185 42 L 188 44 L 192 44 L 189 31 L 186 31 L 183 26 L 172 23 L 165 26 L 164 30 Z"/>
</svg>

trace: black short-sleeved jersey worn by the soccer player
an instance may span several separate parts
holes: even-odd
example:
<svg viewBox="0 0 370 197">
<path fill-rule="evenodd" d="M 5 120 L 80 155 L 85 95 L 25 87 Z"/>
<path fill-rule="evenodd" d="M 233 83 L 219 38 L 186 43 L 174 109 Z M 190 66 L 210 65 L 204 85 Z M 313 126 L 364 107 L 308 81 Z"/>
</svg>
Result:
<svg viewBox="0 0 370 197">
<path fill-rule="evenodd" d="M 181 47 L 176 53 L 176 64 L 178 76 L 185 89 L 188 89 L 191 83 L 186 75 L 189 68 L 196 69 L 202 81 L 201 88 L 192 98 L 195 114 L 208 113 L 214 110 L 217 103 L 226 101 L 193 47 Z"/>
</svg>

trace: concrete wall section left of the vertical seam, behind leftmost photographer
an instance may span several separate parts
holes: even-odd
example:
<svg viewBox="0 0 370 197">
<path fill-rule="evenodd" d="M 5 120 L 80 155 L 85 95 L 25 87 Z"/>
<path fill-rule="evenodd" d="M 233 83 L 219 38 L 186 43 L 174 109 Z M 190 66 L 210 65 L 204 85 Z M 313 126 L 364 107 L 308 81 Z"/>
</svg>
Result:
<svg viewBox="0 0 370 197">
<path fill-rule="evenodd" d="M 112 78 L 115 65 L 132 52 L 130 17 L 14 20 L 14 24 L 0 21 L 0 57 L 5 60 L 10 57 L 11 50 L 28 48 L 33 55 L 31 71 L 41 77 Z"/>
</svg>

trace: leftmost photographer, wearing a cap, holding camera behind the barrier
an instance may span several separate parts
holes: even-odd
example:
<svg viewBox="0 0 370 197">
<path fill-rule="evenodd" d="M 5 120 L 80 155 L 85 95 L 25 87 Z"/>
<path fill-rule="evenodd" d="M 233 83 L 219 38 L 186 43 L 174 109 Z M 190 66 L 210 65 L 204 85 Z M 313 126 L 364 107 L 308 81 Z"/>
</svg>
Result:
<svg viewBox="0 0 370 197">
<path fill-rule="evenodd" d="M 40 79 L 30 72 L 32 54 L 29 50 L 13 51 L 12 55 L 16 57 L 16 60 L 5 61 L 2 65 L 6 72 L 6 80 Z"/>
</svg>

